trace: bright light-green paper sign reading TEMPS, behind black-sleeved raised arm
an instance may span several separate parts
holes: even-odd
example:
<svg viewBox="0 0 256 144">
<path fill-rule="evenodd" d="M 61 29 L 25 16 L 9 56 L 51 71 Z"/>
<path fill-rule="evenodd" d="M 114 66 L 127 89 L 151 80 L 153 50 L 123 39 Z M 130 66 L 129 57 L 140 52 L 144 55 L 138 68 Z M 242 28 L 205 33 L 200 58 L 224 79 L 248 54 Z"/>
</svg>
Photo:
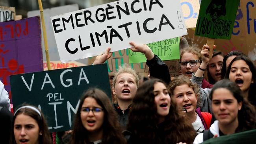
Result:
<svg viewBox="0 0 256 144">
<path fill-rule="evenodd" d="M 180 59 L 180 37 L 147 44 L 152 52 L 161 60 Z M 147 59 L 143 53 L 129 49 L 129 63 L 143 63 Z"/>
</svg>

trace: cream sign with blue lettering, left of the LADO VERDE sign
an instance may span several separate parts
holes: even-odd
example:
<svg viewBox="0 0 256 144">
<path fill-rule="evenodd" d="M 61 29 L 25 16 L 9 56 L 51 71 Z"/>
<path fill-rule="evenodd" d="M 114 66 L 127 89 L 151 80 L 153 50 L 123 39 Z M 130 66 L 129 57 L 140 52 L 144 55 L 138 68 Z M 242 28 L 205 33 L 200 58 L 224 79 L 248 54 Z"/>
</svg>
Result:
<svg viewBox="0 0 256 144">
<path fill-rule="evenodd" d="M 186 28 L 195 28 L 199 14 L 199 0 L 180 0 L 180 5 L 185 19 Z"/>
</svg>

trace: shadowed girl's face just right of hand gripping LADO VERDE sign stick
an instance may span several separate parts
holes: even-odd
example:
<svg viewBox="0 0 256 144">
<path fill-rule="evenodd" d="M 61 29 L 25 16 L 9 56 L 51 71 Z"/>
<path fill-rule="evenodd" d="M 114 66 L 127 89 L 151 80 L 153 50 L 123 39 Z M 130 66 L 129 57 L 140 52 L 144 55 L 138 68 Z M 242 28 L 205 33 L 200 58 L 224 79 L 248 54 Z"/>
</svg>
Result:
<svg viewBox="0 0 256 144">
<path fill-rule="evenodd" d="M 221 68 L 223 66 L 224 55 L 220 51 L 213 52 L 212 58 L 210 59 L 206 68 L 208 81 L 214 85 L 217 81 L 221 80 Z"/>
</svg>

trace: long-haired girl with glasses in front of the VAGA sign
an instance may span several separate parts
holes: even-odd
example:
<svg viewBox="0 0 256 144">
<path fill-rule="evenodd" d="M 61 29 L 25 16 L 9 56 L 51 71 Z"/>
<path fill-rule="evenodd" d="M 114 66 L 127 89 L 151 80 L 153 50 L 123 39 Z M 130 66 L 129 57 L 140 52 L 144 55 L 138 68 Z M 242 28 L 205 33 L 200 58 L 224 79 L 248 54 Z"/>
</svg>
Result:
<svg viewBox="0 0 256 144">
<path fill-rule="evenodd" d="M 71 144 L 125 144 L 108 96 L 90 89 L 80 99 Z"/>
</svg>

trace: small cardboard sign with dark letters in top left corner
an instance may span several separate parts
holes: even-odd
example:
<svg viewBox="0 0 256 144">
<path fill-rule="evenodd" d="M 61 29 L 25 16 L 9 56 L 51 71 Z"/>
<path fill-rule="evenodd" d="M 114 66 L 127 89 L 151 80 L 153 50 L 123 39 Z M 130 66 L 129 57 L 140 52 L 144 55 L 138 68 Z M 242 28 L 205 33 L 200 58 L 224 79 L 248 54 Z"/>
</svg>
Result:
<svg viewBox="0 0 256 144">
<path fill-rule="evenodd" d="M 0 22 L 15 20 L 15 7 L 0 6 Z"/>
</svg>

